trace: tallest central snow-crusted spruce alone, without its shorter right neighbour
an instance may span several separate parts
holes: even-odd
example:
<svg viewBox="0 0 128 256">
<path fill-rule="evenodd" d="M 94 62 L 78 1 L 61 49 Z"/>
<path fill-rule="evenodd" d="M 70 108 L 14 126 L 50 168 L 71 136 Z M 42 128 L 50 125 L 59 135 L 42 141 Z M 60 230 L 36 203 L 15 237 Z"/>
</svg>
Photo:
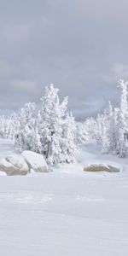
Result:
<svg viewBox="0 0 128 256">
<path fill-rule="evenodd" d="M 59 90 L 54 88 L 53 84 L 45 88 L 44 96 L 41 98 L 42 106 L 38 113 L 39 119 L 39 134 L 41 137 L 42 154 L 45 155 L 46 159 L 52 163 L 53 148 L 55 154 L 60 154 L 59 145 L 54 145 L 55 137 L 58 139 L 60 136 L 60 101 L 58 97 Z M 58 126 L 58 127 L 57 127 Z M 58 140 L 56 139 L 56 144 Z M 58 148 L 58 149 L 57 149 Z"/>
</svg>

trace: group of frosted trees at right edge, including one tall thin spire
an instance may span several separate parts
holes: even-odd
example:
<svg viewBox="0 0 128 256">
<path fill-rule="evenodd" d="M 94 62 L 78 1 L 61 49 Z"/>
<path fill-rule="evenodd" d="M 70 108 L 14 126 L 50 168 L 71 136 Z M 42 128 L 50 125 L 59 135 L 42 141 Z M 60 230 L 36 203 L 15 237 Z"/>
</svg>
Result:
<svg viewBox="0 0 128 256">
<path fill-rule="evenodd" d="M 96 140 L 101 144 L 102 152 L 113 152 L 119 157 L 125 157 L 127 147 L 125 134 L 128 133 L 128 99 L 127 82 L 119 80 L 120 104 L 113 108 L 108 103 L 107 111 L 98 115 L 96 119 Z"/>
</svg>

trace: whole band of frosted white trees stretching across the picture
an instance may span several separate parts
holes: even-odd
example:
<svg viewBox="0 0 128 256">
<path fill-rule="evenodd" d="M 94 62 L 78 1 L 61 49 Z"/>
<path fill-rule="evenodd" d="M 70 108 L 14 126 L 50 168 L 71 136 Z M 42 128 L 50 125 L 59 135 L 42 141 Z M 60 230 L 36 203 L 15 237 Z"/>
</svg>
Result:
<svg viewBox="0 0 128 256">
<path fill-rule="evenodd" d="M 20 113 L 8 119 L 0 118 L 0 137 L 15 140 L 15 148 L 43 154 L 51 166 L 73 162 L 76 148 L 95 139 L 102 153 L 112 152 L 119 157 L 127 154 L 128 141 L 128 82 L 119 80 L 119 108 L 108 102 L 104 113 L 95 118 L 76 122 L 67 112 L 68 98 L 60 102 L 59 90 L 53 84 L 46 87 L 41 107 L 26 103 Z"/>
</svg>

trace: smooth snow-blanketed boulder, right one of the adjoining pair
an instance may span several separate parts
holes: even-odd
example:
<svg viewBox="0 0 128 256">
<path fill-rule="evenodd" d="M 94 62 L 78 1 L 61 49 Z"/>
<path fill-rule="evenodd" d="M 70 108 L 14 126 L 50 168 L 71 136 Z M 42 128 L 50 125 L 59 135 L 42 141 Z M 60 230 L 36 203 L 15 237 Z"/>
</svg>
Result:
<svg viewBox="0 0 128 256">
<path fill-rule="evenodd" d="M 26 160 L 30 170 L 32 169 L 35 172 L 49 172 L 49 167 L 42 154 L 26 150 L 23 151 L 21 155 Z"/>
</svg>

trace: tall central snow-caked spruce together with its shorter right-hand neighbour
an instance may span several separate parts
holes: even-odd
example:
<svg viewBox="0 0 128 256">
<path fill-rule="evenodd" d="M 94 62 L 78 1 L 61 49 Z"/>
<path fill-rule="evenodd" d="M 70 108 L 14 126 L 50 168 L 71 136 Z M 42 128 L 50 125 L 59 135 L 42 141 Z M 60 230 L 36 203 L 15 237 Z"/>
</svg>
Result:
<svg viewBox="0 0 128 256">
<path fill-rule="evenodd" d="M 38 132 L 41 137 L 42 154 L 50 165 L 74 160 L 74 119 L 67 113 L 68 98 L 60 102 L 59 90 L 53 84 L 46 87 L 38 113 Z"/>
</svg>

